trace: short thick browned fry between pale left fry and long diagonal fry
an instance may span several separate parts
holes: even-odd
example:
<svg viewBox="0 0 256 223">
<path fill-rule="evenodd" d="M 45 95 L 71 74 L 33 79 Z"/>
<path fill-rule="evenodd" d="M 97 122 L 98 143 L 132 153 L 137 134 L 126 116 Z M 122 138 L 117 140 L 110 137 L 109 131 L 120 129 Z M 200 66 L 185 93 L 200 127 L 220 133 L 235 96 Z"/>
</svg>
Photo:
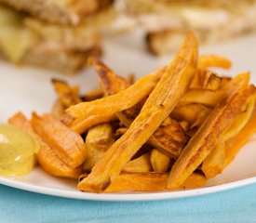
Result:
<svg viewBox="0 0 256 223">
<path fill-rule="evenodd" d="M 113 143 L 114 133 L 110 124 L 91 127 L 86 138 L 87 159 L 83 164 L 84 170 L 90 171 Z"/>
</svg>

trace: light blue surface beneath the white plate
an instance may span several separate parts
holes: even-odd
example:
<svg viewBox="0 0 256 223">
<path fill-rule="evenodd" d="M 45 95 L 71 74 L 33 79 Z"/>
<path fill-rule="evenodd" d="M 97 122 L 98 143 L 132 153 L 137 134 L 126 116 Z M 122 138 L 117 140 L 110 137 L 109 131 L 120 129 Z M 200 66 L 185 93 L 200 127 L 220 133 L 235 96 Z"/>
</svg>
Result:
<svg viewBox="0 0 256 223">
<path fill-rule="evenodd" d="M 256 222 L 256 184 L 177 200 L 90 202 L 0 185 L 0 222 Z"/>
</svg>

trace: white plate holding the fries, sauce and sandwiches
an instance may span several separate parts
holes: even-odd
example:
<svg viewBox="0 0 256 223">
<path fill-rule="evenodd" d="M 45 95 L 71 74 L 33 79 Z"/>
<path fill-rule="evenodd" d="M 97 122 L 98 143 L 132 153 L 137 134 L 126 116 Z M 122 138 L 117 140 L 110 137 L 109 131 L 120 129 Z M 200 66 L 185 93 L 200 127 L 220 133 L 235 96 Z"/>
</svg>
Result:
<svg viewBox="0 0 256 223">
<path fill-rule="evenodd" d="M 166 64 L 171 57 L 155 59 L 143 50 L 140 34 L 130 37 L 118 37 L 106 41 L 104 61 L 116 72 L 127 75 L 135 72 L 137 77 Z M 234 61 L 234 68 L 225 72 L 235 75 L 238 72 L 252 72 L 252 83 L 256 84 L 256 35 L 249 35 L 228 44 L 207 46 L 203 53 L 216 53 L 227 56 Z M 222 71 L 223 72 L 223 71 Z M 16 68 L 7 63 L 0 63 L 0 123 L 15 112 L 22 111 L 30 115 L 32 111 L 49 111 L 55 94 L 50 79 L 61 78 L 71 83 L 82 85 L 82 91 L 93 88 L 97 84 L 94 72 L 89 69 L 85 73 L 72 78 L 63 77 L 53 72 L 28 68 Z M 255 138 L 254 138 L 255 139 Z M 0 177 L 0 183 L 34 192 L 85 200 L 101 201 L 146 201 L 173 199 L 201 195 L 221 190 L 229 190 L 251 183 L 256 183 L 256 142 L 251 140 L 236 156 L 221 175 L 209 180 L 206 187 L 196 190 L 179 190 L 171 192 L 132 193 L 132 194 L 93 194 L 76 190 L 73 180 L 51 177 L 39 167 L 23 177 Z"/>
</svg>

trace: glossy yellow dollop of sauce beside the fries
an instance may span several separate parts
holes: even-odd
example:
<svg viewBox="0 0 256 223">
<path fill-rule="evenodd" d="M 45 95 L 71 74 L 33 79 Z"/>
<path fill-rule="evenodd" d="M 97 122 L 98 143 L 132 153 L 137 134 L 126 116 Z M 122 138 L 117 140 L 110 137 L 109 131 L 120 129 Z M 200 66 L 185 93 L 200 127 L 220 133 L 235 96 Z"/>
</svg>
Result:
<svg viewBox="0 0 256 223">
<path fill-rule="evenodd" d="M 0 175 L 20 176 L 35 164 L 38 142 L 14 125 L 0 125 Z"/>
</svg>

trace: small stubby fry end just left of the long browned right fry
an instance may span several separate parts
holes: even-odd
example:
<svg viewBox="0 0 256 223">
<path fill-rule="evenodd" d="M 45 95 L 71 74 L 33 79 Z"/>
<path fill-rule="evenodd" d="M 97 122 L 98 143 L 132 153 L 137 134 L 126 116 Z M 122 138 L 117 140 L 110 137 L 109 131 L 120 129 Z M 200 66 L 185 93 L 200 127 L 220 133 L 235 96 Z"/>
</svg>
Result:
<svg viewBox="0 0 256 223">
<path fill-rule="evenodd" d="M 171 163 L 171 158 L 162 151 L 153 149 L 150 155 L 150 162 L 154 172 L 165 173 Z"/>
</svg>

